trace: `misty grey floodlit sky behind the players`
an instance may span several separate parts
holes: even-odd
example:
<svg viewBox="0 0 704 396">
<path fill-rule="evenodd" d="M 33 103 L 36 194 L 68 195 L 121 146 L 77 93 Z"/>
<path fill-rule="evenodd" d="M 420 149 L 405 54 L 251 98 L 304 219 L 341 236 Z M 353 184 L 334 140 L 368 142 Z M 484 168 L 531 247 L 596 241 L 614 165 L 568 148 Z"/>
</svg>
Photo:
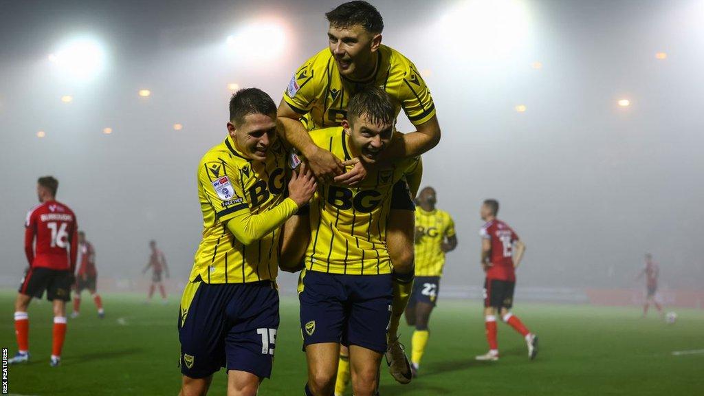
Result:
<svg viewBox="0 0 704 396">
<path fill-rule="evenodd" d="M 60 181 L 101 276 L 138 277 L 153 238 L 186 280 L 202 230 L 196 167 L 225 138 L 227 85 L 278 103 L 327 46 L 337 4 L 0 0 L 0 283 L 27 265 L 40 175 Z M 442 128 L 422 185 L 457 228 L 444 285 L 482 284 L 479 205 L 493 197 L 527 244 L 523 286 L 636 287 L 652 252 L 665 287 L 701 287 L 704 1 L 375 5 Z M 49 60 L 71 40 L 98 43 L 102 63 L 72 74 Z M 399 125 L 412 130 L 403 113 Z"/>
</svg>

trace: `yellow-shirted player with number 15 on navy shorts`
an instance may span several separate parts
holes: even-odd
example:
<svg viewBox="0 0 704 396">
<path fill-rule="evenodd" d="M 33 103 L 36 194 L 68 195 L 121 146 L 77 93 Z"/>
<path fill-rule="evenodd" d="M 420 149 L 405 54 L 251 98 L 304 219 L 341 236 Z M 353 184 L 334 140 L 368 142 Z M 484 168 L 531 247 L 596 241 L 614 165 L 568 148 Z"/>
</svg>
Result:
<svg viewBox="0 0 704 396">
<path fill-rule="evenodd" d="M 198 168 L 203 240 L 181 300 L 180 396 L 206 395 L 220 367 L 227 367 L 228 396 L 254 396 L 270 376 L 280 226 L 316 187 L 306 168 L 287 172 L 268 94 L 249 88 L 232 95 L 227 130 Z"/>
</svg>

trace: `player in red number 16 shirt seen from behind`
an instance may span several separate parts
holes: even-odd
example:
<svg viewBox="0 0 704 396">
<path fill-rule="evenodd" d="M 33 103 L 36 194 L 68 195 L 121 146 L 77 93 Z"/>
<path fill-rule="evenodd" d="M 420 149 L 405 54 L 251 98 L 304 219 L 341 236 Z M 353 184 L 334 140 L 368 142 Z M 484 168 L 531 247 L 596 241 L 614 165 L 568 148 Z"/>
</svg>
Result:
<svg viewBox="0 0 704 396">
<path fill-rule="evenodd" d="M 32 297 L 46 299 L 54 304 L 54 330 L 51 346 L 52 367 L 61 361 L 61 349 L 66 336 L 66 302 L 71 299 L 71 285 L 76 266 L 78 226 L 76 216 L 68 206 L 56 201 L 58 180 L 44 176 L 37 180 L 38 206 L 27 214 L 25 224 L 25 253 L 30 267 L 18 290 L 15 301 L 15 335 L 18 352 L 10 364 L 30 359 L 30 320 L 27 307 Z"/>
</svg>

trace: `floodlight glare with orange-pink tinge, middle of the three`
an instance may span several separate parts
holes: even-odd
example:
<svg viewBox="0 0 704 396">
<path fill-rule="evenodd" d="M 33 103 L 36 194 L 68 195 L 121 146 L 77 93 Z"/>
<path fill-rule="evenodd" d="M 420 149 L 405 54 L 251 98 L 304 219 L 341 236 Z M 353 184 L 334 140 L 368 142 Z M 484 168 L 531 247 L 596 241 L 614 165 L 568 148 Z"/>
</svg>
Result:
<svg viewBox="0 0 704 396">
<path fill-rule="evenodd" d="M 272 20 L 258 20 L 244 25 L 227 37 L 230 54 L 245 60 L 271 61 L 284 54 L 286 29 Z"/>
</svg>

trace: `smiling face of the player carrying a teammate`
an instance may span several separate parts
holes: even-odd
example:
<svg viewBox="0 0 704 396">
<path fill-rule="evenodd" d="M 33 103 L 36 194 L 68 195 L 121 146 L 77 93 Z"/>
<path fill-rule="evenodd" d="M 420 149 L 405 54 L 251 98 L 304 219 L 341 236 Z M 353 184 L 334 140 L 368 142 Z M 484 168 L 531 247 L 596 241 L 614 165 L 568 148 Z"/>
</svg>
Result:
<svg viewBox="0 0 704 396">
<path fill-rule="evenodd" d="M 365 114 L 354 120 L 342 121 L 342 127 L 349 138 L 350 150 L 364 163 L 375 163 L 379 154 L 389 147 L 394 136 L 393 123 L 372 123 Z"/>
</svg>

